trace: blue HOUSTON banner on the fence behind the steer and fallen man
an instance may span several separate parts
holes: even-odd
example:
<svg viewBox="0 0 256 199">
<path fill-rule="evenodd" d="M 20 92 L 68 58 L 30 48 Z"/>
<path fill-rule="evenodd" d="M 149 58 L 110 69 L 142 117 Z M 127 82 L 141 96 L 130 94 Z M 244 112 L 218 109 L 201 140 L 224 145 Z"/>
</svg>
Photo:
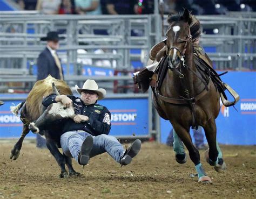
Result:
<svg viewBox="0 0 256 199">
<path fill-rule="evenodd" d="M 21 136 L 23 123 L 10 111 L 10 106 L 20 102 L 4 101 L 5 104 L 0 106 L 0 138 Z M 147 98 L 105 99 L 99 101 L 99 104 L 106 106 L 111 112 L 112 136 L 130 137 L 149 134 Z M 35 134 L 30 132 L 27 137 L 35 137 Z"/>
</svg>

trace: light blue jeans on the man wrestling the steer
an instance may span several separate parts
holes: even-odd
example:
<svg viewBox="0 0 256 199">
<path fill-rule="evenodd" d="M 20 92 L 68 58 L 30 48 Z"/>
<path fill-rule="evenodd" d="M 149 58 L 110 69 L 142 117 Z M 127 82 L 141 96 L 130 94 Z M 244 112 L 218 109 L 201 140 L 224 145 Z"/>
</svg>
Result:
<svg viewBox="0 0 256 199">
<path fill-rule="evenodd" d="M 87 136 L 91 136 L 91 134 L 85 131 L 69 131 L 62 134 L 60 137 L 60 145 L 62 146 L 64 154 L 78 161 L 78 154 L 80 153 L 83 141 Z M 107 152 L 117 162 L 119 162 L 120 158 L 123 157 L 125 150 L 117 138 L 106 134 L 92 137 L 93 146 L 90 158 L 105 152 Z"/>
</svg>

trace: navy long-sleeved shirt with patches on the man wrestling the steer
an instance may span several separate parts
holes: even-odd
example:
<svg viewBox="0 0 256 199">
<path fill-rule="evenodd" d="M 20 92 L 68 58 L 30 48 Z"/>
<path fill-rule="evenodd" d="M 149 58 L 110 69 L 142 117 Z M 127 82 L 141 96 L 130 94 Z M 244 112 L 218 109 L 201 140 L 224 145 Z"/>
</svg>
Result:
<svg viewBox="0 0 256 199">
<path fill-rule="evenodd" d="M 63 125 L 62 131 L 74 131 L 74 130 L 83 130 L 93 136 L 98 136 L 99 134 L 109 134 L 111 129 L 111 113 L 105 106 L 99 104 L 90 104 L 85 105 L 79 97 L 73 95 L 66 95 L 73 102 L 73 107 L 76 115 L 88 116 L 89 120 L 82 123 L 75 123 L 73 119 L 67 119 Z M 51 94 L 48 97 L 44 98 L 42 104 L 48 107 L 55 101 L 56 94 Z"/>
</svg>

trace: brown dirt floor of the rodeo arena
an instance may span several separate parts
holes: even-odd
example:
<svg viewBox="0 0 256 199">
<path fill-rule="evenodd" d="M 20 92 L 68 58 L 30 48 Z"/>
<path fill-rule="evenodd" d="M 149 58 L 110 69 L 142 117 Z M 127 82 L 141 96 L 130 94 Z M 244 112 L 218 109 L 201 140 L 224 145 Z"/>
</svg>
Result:
<svg viewBox="0 0 256 199">
<path fill-rule="evenodd" d="M 24 143 L 16 161 L 9 159 L 14 145 L 0 143 L 0 198 L 256 198 L 256 147 L 222 146 L 227 165 L 217 173 L 201 162 L 212 184 L 197 182 L 192 161 L 179 165 L 172 148 L 143 143 L 132 163 L 120 167 L 108 154 L 79 166 L 80 177 L 59 179 L 60 169 L 50 152 Z"/>
</svg>

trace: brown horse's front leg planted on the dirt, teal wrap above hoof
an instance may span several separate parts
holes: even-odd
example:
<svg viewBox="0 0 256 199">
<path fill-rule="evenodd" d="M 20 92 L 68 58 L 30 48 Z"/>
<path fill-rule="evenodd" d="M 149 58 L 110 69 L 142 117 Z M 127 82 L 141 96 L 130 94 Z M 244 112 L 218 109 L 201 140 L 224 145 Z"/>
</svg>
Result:
<svg viewBox="0 0 256 199">
<path fill-rule="evenodd" d="M 197 150 L 196 147 L 194 147 L 192 143 L 192 139 L 189 133 L 189 129 L 185 129 L 183 126 L 180 124 L 173 124 L 173 127 L 175 131 L 177 132 L 177 135 L 183 141 L 185 146 L 187 147 L 187 150 L 190 154 L 190 159 L 192 162 L 194 162 L 194 165 L 196 167 L 197 173 L 198 173 L 198 182 L 212 182 L 211 178 L 208 177 L 204 171 L 203 166 L 201 165 L 200 162 L 200 154 Z"/>
</svg>

